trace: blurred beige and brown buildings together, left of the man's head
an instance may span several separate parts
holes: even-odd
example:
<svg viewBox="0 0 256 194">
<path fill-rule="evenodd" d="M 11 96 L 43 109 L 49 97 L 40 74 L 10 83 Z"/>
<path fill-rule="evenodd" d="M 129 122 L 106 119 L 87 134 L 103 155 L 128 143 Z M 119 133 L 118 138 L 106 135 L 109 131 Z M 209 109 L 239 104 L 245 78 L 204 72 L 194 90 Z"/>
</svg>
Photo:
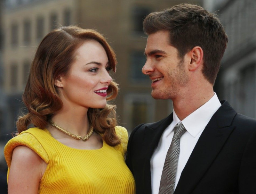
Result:
<svg viewBox="0 0 256 194">
<path fill-rule="evenodd" d="M 140 123 L 164 118 L 172 103 L 151 97 L 150 80 L 141 69 L 146 35 L 143 18 L 182 0 L 5 0 L 3 9 L 3 88 L 6 93 L 6 127 L 2 134 L 16 131 L 15 121 L 21 115 L 21 96 L 27 81 L 35 49 L 41 39 L 61 25 L 94 28 L 107 37 L 116 51 L 120 84 L 114 101 L 120 125 L 130 132 Z M 201 3 L 200 0 L 192 1 Z"/>
</svg>

